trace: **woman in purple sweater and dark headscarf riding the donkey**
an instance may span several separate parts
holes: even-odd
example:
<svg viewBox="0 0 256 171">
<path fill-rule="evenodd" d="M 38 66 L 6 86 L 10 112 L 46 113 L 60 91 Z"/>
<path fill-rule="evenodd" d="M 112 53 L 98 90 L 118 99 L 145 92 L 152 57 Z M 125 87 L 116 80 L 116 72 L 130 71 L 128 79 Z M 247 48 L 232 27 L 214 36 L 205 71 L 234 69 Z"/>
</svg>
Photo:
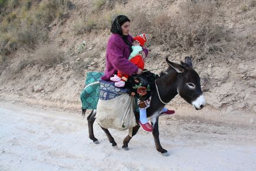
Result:
<svg viewBox="0 0 256 171">
<path fill-rule="evenodd" d="M 117 74 L 120 71 L 126 75 L 142 74 L 143 71 L 131 61 L 129 61 L 130 53 L 132 52 L 132 41 L 133 38 L 129 35 L 130 30 L 130 19 L 124 15 L 117 16 L 111 25 L 111 35 L 107 42 L 106 48 L 106 68 L 104 75 L 101 78 L 104 81 L 110 81 L 110 77 Z M 142 49 L 141 55 L 146 58 L 148 51 L 146 48 Z M 147 121 L 145 101 L 139 101 L 140 108 L 140 119 L 139 123 L 143 130 L 151 131 L 152 126 Z M 162 109 L 161 115 L 173 114 L 175 111 L 168 110 L 167 108 Z"/>
</svg>

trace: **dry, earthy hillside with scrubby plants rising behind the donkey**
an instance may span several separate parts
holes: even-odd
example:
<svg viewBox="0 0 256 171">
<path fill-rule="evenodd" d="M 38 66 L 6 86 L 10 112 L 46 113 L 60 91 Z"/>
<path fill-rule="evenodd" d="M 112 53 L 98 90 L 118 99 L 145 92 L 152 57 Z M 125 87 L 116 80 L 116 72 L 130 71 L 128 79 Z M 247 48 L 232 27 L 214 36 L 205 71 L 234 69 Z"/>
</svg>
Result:
<svg viewBox="0 0 256 171">
<path fill-rule="evenodd" d="M 255 0 L 15 2 L 0 1 L 1 100 L 80 110 L 86 73 L 104 71 L 111 19 L 125 14 L 132 35 L 150 36 L 149 70 L 192 56 L 207 106 L 176 97 L 176 114 L 255 125 Z"/>
</svg>

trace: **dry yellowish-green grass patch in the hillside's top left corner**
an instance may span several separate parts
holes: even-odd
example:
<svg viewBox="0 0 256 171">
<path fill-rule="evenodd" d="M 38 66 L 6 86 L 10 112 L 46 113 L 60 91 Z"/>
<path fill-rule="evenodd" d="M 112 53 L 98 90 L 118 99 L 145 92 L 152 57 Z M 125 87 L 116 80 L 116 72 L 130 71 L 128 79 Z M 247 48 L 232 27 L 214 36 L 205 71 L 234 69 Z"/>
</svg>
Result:
<svg viewBox="0 0 256 171">
<path fill-rule="evenodd" d="M 6 14 L 0 16 L 0 53 L 9 55 L 18 48 L 35 48 L 38 42 L 47 40 L 45 27 L 67 11 L 66 0 L 0 1 Z M 38 4 L 34 5 L 32 4 Z M 7 8 L 8 7 L 8 8 Z M 11 10 L 12 9 L 12 10 Z"/>
</svg>

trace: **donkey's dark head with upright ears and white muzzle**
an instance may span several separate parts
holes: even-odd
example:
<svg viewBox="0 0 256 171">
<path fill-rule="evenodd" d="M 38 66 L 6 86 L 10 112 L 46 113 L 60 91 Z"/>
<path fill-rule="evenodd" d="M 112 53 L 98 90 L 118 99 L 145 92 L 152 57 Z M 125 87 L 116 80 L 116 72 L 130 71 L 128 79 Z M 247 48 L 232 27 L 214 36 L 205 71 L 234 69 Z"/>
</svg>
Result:
<svg viewBox="0 0 256 171">
<path fill-rule="evenodd" d="M 189 104 L 192 104 L 196 110 L 205 106 L 205 98 L 201 90 L 200 77 L 195 70 L 193 70 L 191 57 L 185 58 L 185 63 L 172 63 L 166 58 L 170 67 L 179 73 L 178 94 Z"/>
</svg>

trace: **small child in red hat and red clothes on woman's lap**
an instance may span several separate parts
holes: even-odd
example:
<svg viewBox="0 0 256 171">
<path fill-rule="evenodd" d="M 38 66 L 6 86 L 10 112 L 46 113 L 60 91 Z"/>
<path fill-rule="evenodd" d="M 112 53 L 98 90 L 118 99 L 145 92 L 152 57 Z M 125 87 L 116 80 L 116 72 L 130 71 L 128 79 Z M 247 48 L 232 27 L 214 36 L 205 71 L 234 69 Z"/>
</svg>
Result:
<svg viewBox="0 0 256 171">
<path fill-rule="evenodd" d="M 139 53 L 142 51 L 142 47 L 144 46 L 146 41 L 146 34 L 140 34 L 134 37 L 132 42 L 133 51 L 129 56 L 129 60 L 142 70 L 144 69 L 145 63 L 143 61 L 142 56 Z M 117 71 L 117 75 L 114 75 L 114 77 L 110 77 L 110 80 L 116 82 L 114 83 L 116 87 L 124 87 L 125 81 L 127 81 L 128 77 L 129 75 Z"/>
</svg>

